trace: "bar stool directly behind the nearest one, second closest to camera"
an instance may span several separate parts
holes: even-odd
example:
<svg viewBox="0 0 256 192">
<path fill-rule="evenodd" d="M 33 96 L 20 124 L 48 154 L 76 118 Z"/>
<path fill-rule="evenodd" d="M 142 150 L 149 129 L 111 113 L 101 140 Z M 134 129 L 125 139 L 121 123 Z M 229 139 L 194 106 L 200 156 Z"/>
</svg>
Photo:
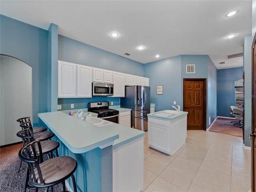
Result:
<svg viewBox="0 0 256 192">
<path fill-rule="evenodd" d="M 34 141 L 34 136 L 33 136 L 33 132 L 31 130 L 31 127 L 20 130 L 16 135 L 18 137 L 22 138 L 24 146 L 29 144 L 30 142 Z M 44 141 L 41 141 L 40 144 L 41 144 L 41 148 L 42 148 L 42 155 L 47 155 L 48 159 L 59 156 L 58 155 L 58 147 L 60 146 L 59 142 L 56 142 L 56 141 L 53 141 L 53 140 L 44 140 Z M 53 154 L 54 151 L 56 152 L 56 155 Z M 40 156 L 38 146 L 36 148 L 36 156 Z M 27 166 L 23 192 L 26 192 L 27 188 L 28 189 L 35 189 L 35 187 L 28 185 L 28 179 L 29 179 L 29 170 L 28 170 L 28 166 Z"/>
</svg>

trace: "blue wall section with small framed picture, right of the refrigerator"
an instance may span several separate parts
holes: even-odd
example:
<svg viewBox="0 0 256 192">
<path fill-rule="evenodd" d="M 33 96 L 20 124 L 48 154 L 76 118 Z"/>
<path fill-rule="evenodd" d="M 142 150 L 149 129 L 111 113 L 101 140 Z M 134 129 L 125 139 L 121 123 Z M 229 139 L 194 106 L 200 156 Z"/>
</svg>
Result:
<svg viewBox="0 0 256 192">
<path fill-rule="evenodd" d="M 183 106 L 181 85 L 181 56 L 144 64 L 144 75 L 149 80 L 150 102 L 155 111 L 173 109 L 173 102 Z M 163 85 L 163 94 L 156 94 L 156 86 Z"/>
</svg>

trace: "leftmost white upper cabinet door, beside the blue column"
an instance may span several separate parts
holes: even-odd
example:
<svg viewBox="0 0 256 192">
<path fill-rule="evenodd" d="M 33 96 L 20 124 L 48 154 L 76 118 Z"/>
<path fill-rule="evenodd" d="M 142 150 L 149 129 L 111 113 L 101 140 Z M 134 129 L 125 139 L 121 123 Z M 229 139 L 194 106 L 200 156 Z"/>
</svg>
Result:
<svg viewBox="0 0 256 192">
<path fill-rule="evenodd" d="M 76 96 L 76 64 L 58 61 L 58 97 Z"/>
</svg>

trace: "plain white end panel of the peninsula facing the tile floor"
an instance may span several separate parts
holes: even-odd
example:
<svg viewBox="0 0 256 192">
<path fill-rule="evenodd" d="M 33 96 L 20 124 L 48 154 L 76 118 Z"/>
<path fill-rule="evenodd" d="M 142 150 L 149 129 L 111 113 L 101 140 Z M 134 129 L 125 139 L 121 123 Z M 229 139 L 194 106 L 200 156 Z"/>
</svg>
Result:
<svg viewBox="0 0 256 192">
<path fill-rule="evenodd" d="M 139 192 L 143 188 L 143 136 L 113 149 L 113 192 Z"/>
</svg>

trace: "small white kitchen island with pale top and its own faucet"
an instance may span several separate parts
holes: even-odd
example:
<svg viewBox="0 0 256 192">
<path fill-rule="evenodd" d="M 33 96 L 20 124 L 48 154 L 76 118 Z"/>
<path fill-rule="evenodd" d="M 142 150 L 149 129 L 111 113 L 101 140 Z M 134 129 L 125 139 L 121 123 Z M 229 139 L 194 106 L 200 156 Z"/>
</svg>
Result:
<svg viewBox="0 0 256 192">
<path fill-rule="evenodd" d="M 151 148 L 174 154 L 187 137 L 187 114 L 174 110 L 162 110 L 148 114 L 148 144 Z"/>
</svg>

